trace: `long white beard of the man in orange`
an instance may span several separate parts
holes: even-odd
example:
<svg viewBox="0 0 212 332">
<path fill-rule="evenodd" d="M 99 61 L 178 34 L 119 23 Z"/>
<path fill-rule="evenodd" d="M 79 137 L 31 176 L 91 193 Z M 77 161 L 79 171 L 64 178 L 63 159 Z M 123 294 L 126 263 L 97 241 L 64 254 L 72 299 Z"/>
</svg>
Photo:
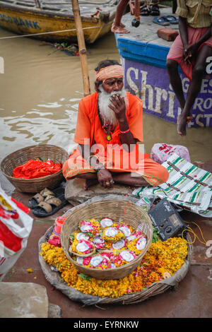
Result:
<svg viewBox="0 0 212 332">
<path fill-rule="evenodd" d="M 112 93 L 106 93 L 106 91 L 102 88 L 102 85 L 99 86 L 101 93 L 99 94 L 98 102 L 99 102 L 99 109 L 100 115 L 103 120 L 110 122 L 113 126 L 117 124 L 117 118 L 110 107 L 108 105 L 112 105 L 110 101 L 110 97 L 112 95 L 119 95 L 121 98 L 124 97 L 125 105 L 127 107 L 128 100 L 126 97 L 126 90 L 122 88 L 120 91 L 113 91 Z"/>
</svg>

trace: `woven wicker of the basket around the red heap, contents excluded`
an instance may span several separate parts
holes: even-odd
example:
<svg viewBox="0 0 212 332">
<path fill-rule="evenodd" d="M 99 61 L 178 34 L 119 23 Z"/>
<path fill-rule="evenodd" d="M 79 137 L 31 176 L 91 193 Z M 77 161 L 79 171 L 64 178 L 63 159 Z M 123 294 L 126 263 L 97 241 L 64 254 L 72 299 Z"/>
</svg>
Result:
<svg viewBox="0 0 212 332">
<path fill-rule="evenodd" d="M 38 157 L 42 158 L 42 160 L 47 160 L 49 158 L 53 162 L 61 162 L 63 164 L 66 159 L 69 158 L 69 155 L 66 150 L 59 148 L 58 146 L 47 144 L 28 146 L 27 148 L 17 150 L 4 158 L 1 162 L 1 172 L 20 192 L 37 193 L 46 187 L 49 189 L 56 188 L 63 179 L 62 170 L 47 175 L 47 177 L 38 177 L 37 179 L 18 179 L 13 177 L 13 170 L 15 167 L 23 165 L 29 159 L 36 160 Z"/>
</svg>

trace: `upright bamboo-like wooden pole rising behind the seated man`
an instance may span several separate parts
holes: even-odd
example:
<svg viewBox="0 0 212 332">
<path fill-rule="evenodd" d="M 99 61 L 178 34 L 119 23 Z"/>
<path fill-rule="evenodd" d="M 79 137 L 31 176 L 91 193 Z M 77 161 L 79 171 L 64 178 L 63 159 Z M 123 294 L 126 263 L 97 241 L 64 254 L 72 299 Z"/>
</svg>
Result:
<svg viewBox="0 0 212 332">
<path fill-rule="evenodd" d="M 76 25 L 76 35 L 78 40 L 78 52 L 80 54 L 81 59 L 81 70 L 83 74 L 83 91 L 84 96 L 90 95 L 90 81 L 88 74 L 88 62 L 87 62 L 87 51 L 86 51 L 86 43 L 83 32 L 83 26 L 81 22 L 80 16 L 80 8 L 78 6 L 78 0 L 71 0 L 72 2 L 72 10 L 73 16 Z"/>
</svg>

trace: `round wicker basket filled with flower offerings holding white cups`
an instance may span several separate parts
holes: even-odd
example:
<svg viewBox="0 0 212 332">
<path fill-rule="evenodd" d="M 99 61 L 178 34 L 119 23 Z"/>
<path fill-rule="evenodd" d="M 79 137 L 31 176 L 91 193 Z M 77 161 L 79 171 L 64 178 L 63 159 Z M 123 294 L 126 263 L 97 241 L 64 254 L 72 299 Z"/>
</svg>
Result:
<svg viewBox="0 0 212 332">
<path fill-rule="evenodd" d="M 61 228 L 61 246 L 78 271 L 124 278 L 141 263 L 153 238 L 148 213 L 131 201 L 102 200 L 76 208 Z"/>
</svg>

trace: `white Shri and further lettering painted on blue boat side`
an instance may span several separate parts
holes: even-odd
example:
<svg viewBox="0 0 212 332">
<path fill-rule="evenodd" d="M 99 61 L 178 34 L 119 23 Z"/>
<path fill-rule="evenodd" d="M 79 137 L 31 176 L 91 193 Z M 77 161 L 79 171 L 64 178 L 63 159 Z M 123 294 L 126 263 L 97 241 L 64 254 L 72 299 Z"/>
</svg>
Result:
<svg viewBox="0 0 212 332">
<path fill-rule="evenodd" d="M 207 60 L 211 61 L 212 69 L 212 57 L 208 57 Z M 187 93 L 190 83 L 189 78 L 183 77 L 182 73 L 179 73 L 179 75 L 182 79 L 182 90 Z M 169 81 L 167 81 L 167 88 L 156 86 L 155 83 L 148 84 L 148 71 L 130 66 L 126 69 L 126 84 L 128 90 L 141 98 L 143 109 L 170 119 L 175 119 L 182 112 Z M 194 126 L 195 122 L 199 126 L 210 126 L 211 124 L 212 114 L 206 114 L 206 112 L 208 113 L 212 109 L 212 97 L 208 96 L 212 93 L 212 79 L 204 78 L 202 80 L 200 93 L 205 96 L 196 97 L 193 105 L 193 109 L 200 112 L 200 114 L 193 114 L 193 121 L 188 124 L 189 126 Z"/>
</svg>

